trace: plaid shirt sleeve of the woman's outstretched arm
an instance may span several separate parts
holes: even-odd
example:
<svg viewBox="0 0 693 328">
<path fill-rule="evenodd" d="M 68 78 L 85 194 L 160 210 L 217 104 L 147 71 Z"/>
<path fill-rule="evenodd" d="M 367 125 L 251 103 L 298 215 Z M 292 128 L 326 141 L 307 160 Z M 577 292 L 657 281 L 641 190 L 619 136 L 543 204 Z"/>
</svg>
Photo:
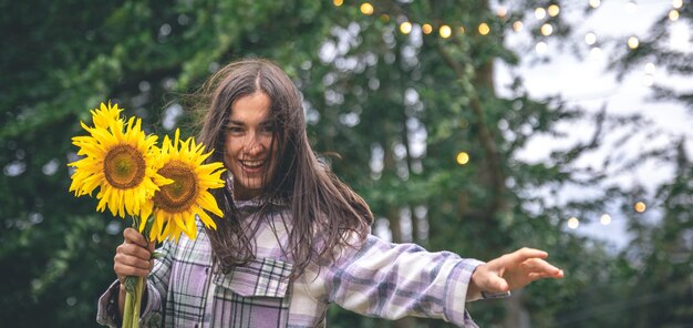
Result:
<svg viewBox="0 0 693 328">
<path fill-rule="evenodd" d="M 342 250 L 333 265 L 322 268 L 328 301 L 365 316 L 439 318 L 477 327 L 465 303 L 472 274 L 482 262 L 373 235 L 360 247 Z"/>
</svg>

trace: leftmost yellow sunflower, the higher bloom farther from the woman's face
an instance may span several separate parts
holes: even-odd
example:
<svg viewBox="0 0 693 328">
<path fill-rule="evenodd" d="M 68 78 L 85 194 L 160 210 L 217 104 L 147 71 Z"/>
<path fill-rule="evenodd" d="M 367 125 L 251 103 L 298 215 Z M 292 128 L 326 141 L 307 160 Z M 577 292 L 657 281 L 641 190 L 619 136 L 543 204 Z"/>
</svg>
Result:
<svg viewBox="0 0 693 328">
<path fill-rule="evenodd" d="M 116 216 L 125 213 L 141 216 L 152 213 L 151 198 L 161 185 L 170 183 L 156 171 L 158 148 L 156 135 L 145 135 L 139 119 L 127 123 L 120 119 L 117 105 L 92 111 L 94 126 L 81 125 L 90 135 L 75 136 L 72 143 L 84 157 L 68 165 L 74 167 L 70 192 L 75 196 L 90 195 L 99 187 L 96 211 L 106 206 Z"/>
</svg>

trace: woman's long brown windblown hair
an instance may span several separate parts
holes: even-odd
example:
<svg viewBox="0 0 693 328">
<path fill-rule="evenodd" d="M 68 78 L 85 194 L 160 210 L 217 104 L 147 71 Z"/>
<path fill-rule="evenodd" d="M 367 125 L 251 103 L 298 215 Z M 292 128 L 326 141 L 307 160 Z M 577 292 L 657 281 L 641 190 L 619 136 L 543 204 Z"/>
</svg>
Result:
<svg viewBox="0 0 693 328">
<path fill-rule="evenodd" d="M 288 245 L 293 259 L 292 277 L 301 275 L 311 262 L 334 260 L 335 246 L 349 246 L 346 238 L 356 233 L 363 239 L 373 222 L 368 204 L 329 168 L 318 161 L 306 133 L 301 96 L 291 79 L 275 63 L 261 59 L 232 62 L 216 72 L 198 91 L 198 111 L 204 111 L 199 141 L 214 153 L 207 162 L 224 162 L 227 124 L 231 105 L 240 98 L 263 92 L 271 101 L 269 120 L 273 125 L 271 156 L 275 170 L 265 177 L 259 216 L 271 202 L 290 207 Z M 227 172 L 226 174 L 230 174 Z M 231 177 L 232 178 L 232 177 Z M 229 180 L 227 180 L 229 181 Z M 215 258 L 221 269 L 251 260 L 252 235 L 241 227 L 232 191 L 213 192 L 225 217 L 213 217 L 217 229 L 207 229 Z M 211 215 L 211 214 L 210 214 Z"/>
</svg>

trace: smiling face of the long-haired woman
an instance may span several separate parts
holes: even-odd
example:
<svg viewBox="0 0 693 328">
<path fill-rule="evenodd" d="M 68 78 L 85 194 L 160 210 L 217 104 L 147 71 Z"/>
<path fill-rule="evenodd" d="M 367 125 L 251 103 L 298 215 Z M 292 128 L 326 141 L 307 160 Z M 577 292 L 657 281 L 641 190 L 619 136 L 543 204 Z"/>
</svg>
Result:
<svg viewBox="0 0 693 328">
<path fill-rule="evenodd" d="M 275 170 L 276 144 L 269 120 L 271 101 L 263 92 L 237 99 L 226 126 L 224 162 L 234 175 L 234 197 L 258 196 Z"/>
</svg>

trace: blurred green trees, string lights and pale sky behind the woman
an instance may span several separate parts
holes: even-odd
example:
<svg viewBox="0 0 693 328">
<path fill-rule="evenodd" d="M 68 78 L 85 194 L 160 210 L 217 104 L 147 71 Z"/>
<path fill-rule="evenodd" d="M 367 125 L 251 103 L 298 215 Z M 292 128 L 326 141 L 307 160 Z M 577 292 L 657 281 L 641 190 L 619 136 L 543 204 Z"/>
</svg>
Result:
<svg viewBox="0 0 693 328">
<path fill-rule="evenodd" d="M 89 110 L 195 135 L 185 96 L 261 57 L 375 234 L 565 269 L 468 304 L 482 327 L 693 327 L 692 19 L 689 0 L 2 0 L 0 321 L 96 326 L 125 224 L 68 193 Z"/>
</svg>

